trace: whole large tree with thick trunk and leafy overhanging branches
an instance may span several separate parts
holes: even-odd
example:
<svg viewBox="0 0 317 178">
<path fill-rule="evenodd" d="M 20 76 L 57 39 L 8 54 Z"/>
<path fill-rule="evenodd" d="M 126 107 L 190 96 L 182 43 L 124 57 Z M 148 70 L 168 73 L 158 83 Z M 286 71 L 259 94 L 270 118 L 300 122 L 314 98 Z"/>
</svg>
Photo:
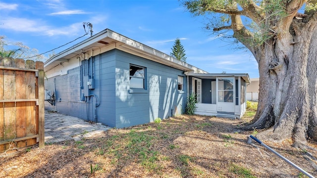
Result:
<svg viewBox="0 0 317 178">
<path fill-rule="evenodd" d="M 232 31 L 232 38 L 256 58 L 259 105 L 246 128 L 269 128 L 257 136 L 270 141 L 292 138 L 294 146 L 317 140 L 317 0 L 182 3 L 192 14 L 210 19 L 207 29 Z"/>
</svg>

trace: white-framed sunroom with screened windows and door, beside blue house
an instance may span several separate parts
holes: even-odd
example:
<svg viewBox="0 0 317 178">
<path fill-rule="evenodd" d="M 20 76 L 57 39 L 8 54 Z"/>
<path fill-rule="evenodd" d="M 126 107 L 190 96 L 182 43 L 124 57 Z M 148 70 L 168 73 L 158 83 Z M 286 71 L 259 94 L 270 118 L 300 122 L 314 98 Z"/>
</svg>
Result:
<svg viewBox="0 0 317 178">
<path fill-rule="evenodd" d="M 248 74 L 189 73 L 188 91 L 196 93 L 195 114 L 240 119 L 246 111 Z"/>
</svg>

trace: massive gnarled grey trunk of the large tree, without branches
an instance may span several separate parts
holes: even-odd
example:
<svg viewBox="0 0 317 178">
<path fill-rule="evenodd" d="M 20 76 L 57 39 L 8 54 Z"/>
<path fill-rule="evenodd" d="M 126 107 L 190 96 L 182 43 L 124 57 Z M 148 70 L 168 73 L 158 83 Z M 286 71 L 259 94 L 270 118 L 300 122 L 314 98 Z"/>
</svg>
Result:
<svg viewBox="0 0 317 178">
<path fill-rule="evenodd" d="M 317 27 L 303 25 L 288 35 L 253 52 L 259 64 L 259 105 L 246 128 L 269 128 L 258 138 L 292 138 L 302 146 L 308 138 L 317 140 Z"/>
</svg>

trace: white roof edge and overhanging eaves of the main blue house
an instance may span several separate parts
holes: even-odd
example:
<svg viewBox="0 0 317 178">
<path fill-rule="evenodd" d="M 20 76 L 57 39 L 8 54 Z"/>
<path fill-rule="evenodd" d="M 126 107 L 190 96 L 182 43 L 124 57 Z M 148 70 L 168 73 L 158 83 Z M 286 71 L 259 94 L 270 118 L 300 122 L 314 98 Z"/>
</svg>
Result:
<svg viewBox="0 0 317 178">
<path fill-rule="evenodd" d="M 170 55 L 167 55 L 150 46 L 131 40 L 109 29 L 103 30 L 98 34 L 76 45 L 73 45 L 68 49 L 63 50 L 58 54 L 55 54 L 52 58 L 44 63 L 44 70 L 48 71 L 53 67 L 61 64 L 62 62 L 68 62 L 72 58 L 76 58 L 79 56 L 85 57 L 86 55 L 88 55 L 88 57 L 96 56 L 112 49 L 119 49 L 130 54 L 156 61 L 183 71 L 208 73 L 202 69 L 175 59 Z"/>
</svg>

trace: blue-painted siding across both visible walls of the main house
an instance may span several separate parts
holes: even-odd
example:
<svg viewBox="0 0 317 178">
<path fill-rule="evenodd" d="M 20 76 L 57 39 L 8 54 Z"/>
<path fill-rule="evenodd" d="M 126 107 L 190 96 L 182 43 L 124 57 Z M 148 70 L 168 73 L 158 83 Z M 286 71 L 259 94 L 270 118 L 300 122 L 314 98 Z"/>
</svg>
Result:
<svg viewBox="0 0 317 178">
<path fill-rule="evenodd" d="M 56 81 L 56 99 L 61 98 L 60 102 L 56 101 L 56 110 L 60 113 L 123 128 L 149 123 L 158 117 L 168 118 L 185 107 L 187 81 L 184 71 L 117 49 L 92 57 L 89 63 L 89 69 L 82 75 L 94 78 L 95 89 L 90 90 L 94 96 L 87 97 L 86 103 L 80 101 L 84 93 L 80 88 L 80 67 L 46 81 L 45 88 L 52 91 L 54 79 Z M 145 92 L 130 90 L 130 64 L 146 68 Z M 178 92 L 178 76 L 184 77 L 183 93 Z M 55 106 L 46 102 L 45 108 L 54 110 Z"/>
</svg>

